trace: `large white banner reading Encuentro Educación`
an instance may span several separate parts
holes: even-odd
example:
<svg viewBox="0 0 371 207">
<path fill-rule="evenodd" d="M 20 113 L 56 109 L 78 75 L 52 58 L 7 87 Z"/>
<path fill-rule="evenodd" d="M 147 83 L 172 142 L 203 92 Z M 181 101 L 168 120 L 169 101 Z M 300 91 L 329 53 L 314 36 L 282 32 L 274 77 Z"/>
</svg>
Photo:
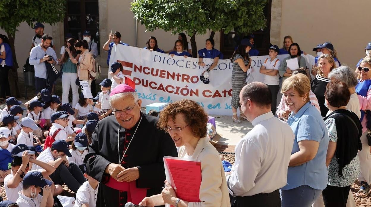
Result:
<svg viewBox="0 0 371 207">
<path fill-rule="evenodd" d="M 283 60 L 288 55 L 279 55 Z M 259 73 L 262 62 L 268 56 L 252 57 L 252 81 L 263 81 Z M 190 99 L 200 104 L 209 114 L 232 114 L 232 70 L 230 59 L 219 60 L 210 71 L 210 83 L 204 84 L 200 75 L 214 59 L 203 59 L 205 67 L 198 66 L 198 59 L 174 56 L 145 50 L 137 47 L 115 45 L 109 63 L 120 61 L 123 73 L 135 83 L 135 90 L 142 99 L 142 106 L 151 103 L 171 103 L 176 100 Z"/>
</svg>

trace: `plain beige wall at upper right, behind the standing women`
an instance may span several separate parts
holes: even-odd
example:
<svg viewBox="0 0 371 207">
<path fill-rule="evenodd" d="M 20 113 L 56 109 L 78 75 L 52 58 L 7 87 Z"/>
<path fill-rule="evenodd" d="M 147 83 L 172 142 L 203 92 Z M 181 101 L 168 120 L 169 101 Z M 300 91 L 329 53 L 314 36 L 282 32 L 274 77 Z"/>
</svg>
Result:
<svg viewBox="0 0 371 207">
<path fill-rule="evenodd" d="M 291 35 L 303 51 L 314 55 L 313 47 L 330 41 L 339 61 L 354 69 L 371 42 L 370 8 L 371 1 L 364 0 L 282 0 L 279 44 Z"/>
</svg>

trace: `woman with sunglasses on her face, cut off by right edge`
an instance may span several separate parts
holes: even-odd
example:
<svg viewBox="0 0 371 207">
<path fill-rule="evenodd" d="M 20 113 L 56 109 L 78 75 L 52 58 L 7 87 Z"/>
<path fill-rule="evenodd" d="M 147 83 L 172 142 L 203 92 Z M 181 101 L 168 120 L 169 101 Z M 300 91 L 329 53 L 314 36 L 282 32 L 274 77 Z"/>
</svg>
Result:
<svg viewBox="0 0 371 207">
<path fill-rule="evenodd" d="M 358 197 L 367 197 L 370 190 L 371 182 L 371 155 L 370 146 L 367 144 L 367 136 L 370 130 L 367 129 L 367 114 L 366 110 L 371 110 L 371 57 L 365 57 L 358 66 L 358 73 L 360 75 L 359 83 L 355 87 L 355 92 L 358 94 L 359 107 L 361 109 L 361 123 L 362 123 L 362 150 L 358 151 L 359 163 L 361 164 L 361 174 L 358 180 L 361 181 L 361 187 L 355 194 Z"/>
</svg>

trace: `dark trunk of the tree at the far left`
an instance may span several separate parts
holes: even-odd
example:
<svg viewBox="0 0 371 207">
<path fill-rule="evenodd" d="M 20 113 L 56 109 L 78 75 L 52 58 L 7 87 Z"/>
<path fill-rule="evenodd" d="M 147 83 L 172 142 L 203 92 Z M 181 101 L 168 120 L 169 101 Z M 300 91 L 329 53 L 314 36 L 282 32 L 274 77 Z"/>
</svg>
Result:
<svg viewBox="0 0 371 207">
<path fill-rule="evenodd" d="M 9 87 L 10 87 L 10 96 L 14 96 L 16 98 L 19 98 L 21 96 L 19 84 L 18 84 L 18 63 L 17 63 L 17 57 L 16 57 L 16 50 L 14 47 L 14 40 L 15 40 L 15 34 L 12 36 L 9 32 L 7 32 L 8 39 L 9 39 L 9 45 L 10 49 L 12 49 L 12 56 L 13 56 L 13 67 L 12 70 L 9 70 Z"/>
</svg>

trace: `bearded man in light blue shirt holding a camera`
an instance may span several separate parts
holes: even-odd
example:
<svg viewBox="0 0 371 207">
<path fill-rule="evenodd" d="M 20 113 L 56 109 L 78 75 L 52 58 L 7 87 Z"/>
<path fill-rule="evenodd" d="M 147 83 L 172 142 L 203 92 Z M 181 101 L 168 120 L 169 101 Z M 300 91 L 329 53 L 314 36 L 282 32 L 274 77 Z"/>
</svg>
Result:
<svg viewBox="0 0 371 207">
<path fill-rule="evenodd" d="M 52 91 L 53 88 L 53 81 L 50 81 L 50 83 L 47 81 L 46 64 L 44 63 L 58 64 L 60 61 L 57 59 L 55 51 L 50 47 L 52 39 L 49 34 L 44 34 L 41 43 L 32 48 L 30 53 L 30 65 L 35 66 L 36 93 L 39 93 L 42 89 Z"/>
</svg>

